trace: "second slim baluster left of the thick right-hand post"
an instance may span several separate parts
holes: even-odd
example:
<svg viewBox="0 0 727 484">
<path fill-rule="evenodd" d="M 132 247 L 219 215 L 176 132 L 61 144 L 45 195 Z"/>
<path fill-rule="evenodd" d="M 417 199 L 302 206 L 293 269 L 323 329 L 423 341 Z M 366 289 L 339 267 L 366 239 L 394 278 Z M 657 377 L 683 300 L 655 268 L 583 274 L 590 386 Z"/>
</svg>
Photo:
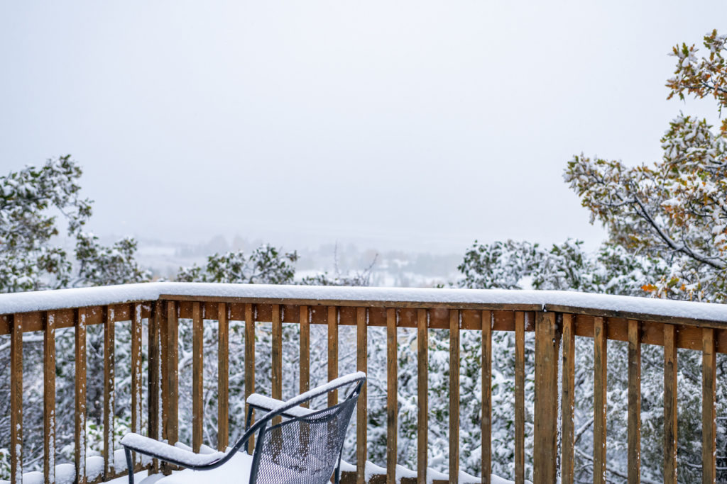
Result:
<svg viewBox="0 0 727 484">
<path fill-rule="evenodd" d="M 490 484 L 492 473 L 492 313 L 482 311 L 482 484 Z"/>
</svg>

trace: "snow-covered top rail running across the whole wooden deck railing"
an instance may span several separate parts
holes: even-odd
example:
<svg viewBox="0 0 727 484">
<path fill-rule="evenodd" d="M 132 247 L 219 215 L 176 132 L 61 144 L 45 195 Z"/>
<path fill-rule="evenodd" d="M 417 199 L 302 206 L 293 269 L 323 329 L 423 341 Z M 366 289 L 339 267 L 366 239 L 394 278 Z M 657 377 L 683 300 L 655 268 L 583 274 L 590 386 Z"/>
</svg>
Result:
<svg viewBox="0 0 727 484">
<path fill-rule="evenodd" d="M 502 308 L 563 311 L 628 319 L 723 323 L 727 305 L 567 291 L 332 287 L 150 282 L 0 295 L 0 314 L 81 308 L 158 299 L 378 307 Z M 721 324 L 718 324 L 721 327 Z"/>
</svg>

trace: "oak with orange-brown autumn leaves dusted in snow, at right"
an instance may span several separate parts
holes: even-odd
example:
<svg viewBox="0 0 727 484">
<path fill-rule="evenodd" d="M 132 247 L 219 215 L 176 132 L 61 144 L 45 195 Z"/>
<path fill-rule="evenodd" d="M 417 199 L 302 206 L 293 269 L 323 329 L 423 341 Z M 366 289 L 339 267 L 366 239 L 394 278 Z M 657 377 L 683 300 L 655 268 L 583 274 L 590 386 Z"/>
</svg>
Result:
<svg viewBox="0 0 727 484">
<path fill-rule="evenodd" d="M 707 52 L 675 46 L 669 98 L 712 97 L 727 106 L 727 36 L 704 36 Z M 678 115 L 662 137 L 658 163 L 574 157 L 565 179 L 609 232 L 608 243 L 667 263 L 644 281 L 662 298 L 727 302 L 727 119 L 719 128 Z M 646 274 L 648 277 L 648 274 Z"/>
</svg>

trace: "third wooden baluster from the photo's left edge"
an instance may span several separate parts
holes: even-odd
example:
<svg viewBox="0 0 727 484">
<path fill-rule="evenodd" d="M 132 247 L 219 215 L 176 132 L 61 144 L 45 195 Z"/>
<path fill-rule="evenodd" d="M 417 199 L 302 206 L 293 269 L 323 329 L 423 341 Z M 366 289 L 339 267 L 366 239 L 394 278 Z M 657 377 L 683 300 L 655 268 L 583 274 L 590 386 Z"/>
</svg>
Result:
<svg viewBox="0 0 727 484">
<path fill-rule="evenodd" d="M 86 320 L 87 309 L 76 314 L 76 483 L 86 484 Z"/>
</svg>

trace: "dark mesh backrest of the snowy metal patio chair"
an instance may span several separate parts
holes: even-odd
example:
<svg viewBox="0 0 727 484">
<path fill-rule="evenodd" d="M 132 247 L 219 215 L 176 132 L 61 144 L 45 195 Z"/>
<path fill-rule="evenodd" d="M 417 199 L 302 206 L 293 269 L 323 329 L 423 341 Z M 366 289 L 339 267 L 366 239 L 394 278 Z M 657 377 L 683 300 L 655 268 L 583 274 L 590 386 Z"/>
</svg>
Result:
<svg viewBox="0 0 727 484">
<path fill-rule="evenodd" d="M 359 381 L 337 405 L 262 427 L 253 454 L 250 484 L 328 483 L 340 462 L 362 385 Z"/>
</svg>

